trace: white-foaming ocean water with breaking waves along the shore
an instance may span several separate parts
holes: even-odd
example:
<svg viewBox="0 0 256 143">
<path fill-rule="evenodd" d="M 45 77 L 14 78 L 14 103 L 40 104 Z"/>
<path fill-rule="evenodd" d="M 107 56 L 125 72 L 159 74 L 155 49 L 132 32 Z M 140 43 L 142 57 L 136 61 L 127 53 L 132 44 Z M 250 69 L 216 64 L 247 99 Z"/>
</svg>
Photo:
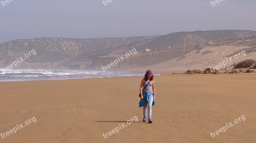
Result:
<svg viewBox="0 0 256 143">
<path fill-rule="evenodd" d="M 141 73 L 100 70 L 0 69 L 0 82 L 143 76 Z"/>
</svg>

